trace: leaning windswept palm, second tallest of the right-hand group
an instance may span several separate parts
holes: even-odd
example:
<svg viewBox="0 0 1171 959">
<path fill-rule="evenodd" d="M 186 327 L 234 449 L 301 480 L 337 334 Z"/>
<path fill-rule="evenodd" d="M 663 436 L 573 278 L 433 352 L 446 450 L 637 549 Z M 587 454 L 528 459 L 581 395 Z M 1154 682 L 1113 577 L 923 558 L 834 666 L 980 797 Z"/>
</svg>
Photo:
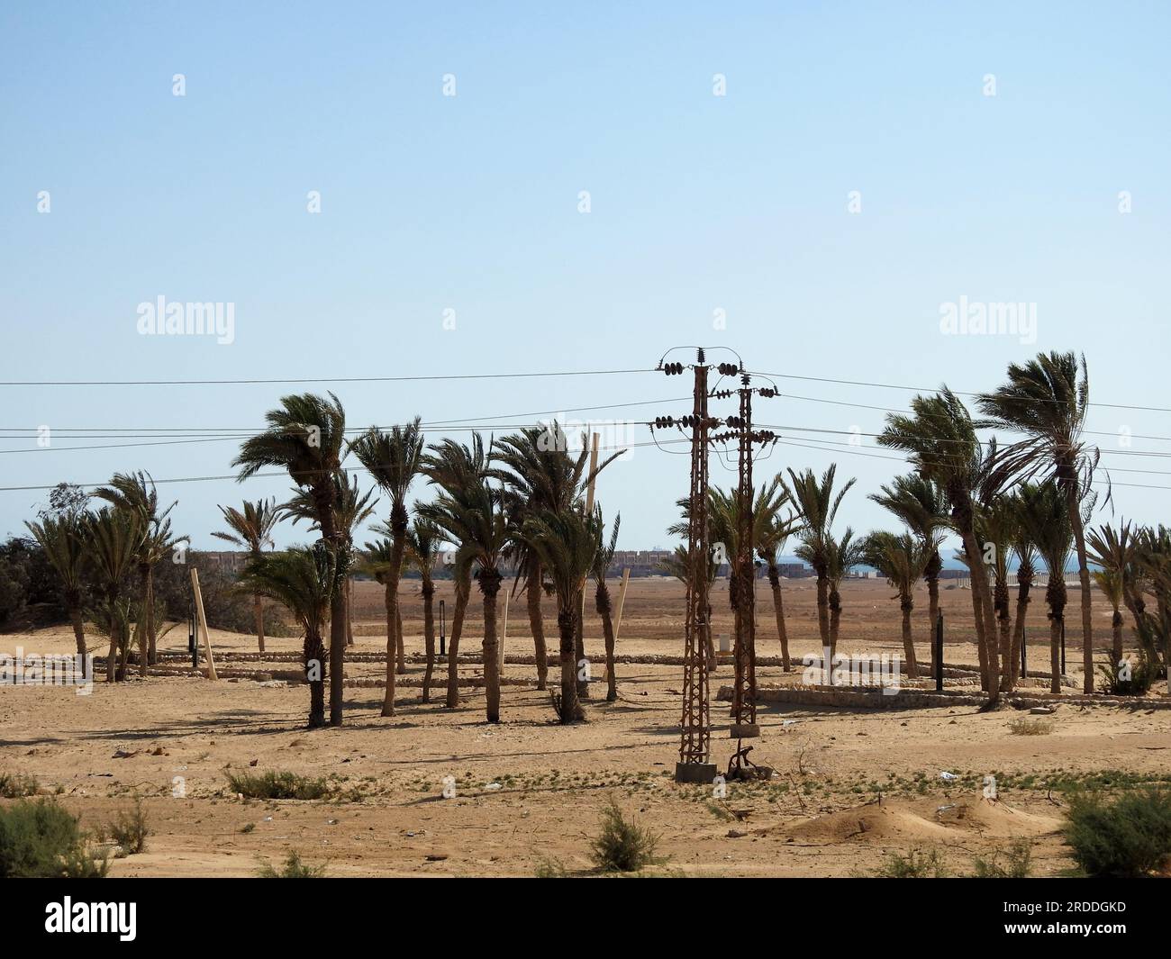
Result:
<svg viewBox="0 0 1171 959">
<path fill-rule="evenodd" d="M 938 484 L 951 509 L 952 527 L 959 533 L 964 552 L 980 556 L 975 535 L 975 498 L 991 489 L 988 464 L 975 436 L 975 424 L 967 407 L 944 386 L 933 396 L 916 396 L 911 413 L 889 413 L 886 427 L 878 437 L 881 446 L 902 450 L 926 480 Z M 989 704 L 1000 700 L 999 670 L 995 667 L 994 641 L 997 616 L 984 563 L 972 564 L 972 610 L 975 618 L 980 673 Z"/>
</svg>

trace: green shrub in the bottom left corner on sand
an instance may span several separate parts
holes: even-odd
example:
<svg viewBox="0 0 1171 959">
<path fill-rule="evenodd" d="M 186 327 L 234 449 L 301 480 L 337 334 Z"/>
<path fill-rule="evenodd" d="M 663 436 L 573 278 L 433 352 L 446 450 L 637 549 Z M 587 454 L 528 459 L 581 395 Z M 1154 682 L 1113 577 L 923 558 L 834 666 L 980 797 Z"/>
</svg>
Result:
<svg viewBox="0 0 1171 959">
<path fill-rule="evenodd" d="M 89 879 L 109 863 L 85 851 L 77 818 L 55 800 L 20 800 L 0 809 L 0 878 Z"/>
</svg>

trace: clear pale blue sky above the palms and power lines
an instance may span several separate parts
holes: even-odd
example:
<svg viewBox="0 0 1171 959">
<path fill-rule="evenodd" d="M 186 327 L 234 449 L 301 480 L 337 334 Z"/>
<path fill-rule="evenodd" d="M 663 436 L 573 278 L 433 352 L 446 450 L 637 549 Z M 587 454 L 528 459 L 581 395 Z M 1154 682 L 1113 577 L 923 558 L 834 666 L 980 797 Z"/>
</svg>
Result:
<svg viewBox="0 0 1171 959">
<path fill-rule="evenodd" d="M 629 370 L 700 343 L 774 374 L 980 390 L 1076 349 L 1094 400 L 1167 407 L 1169 36 L 1157 2 L 6 2 L 0 379 Z M 233 304 L 233 342 L 141 335 L 159 296 Z M 1035 342 L 945 335 L 963 297 L 1033 304 Z M 865 407 L 911 396 L 778 385 L 759 418 L 830 444 L 802 431 L 877 432 Z M 222 475 L 235 439 L 69 447 L 247 431 L 292 389 L 0 386 L 0 486 Z M 679 415 L 689 392 L 652 372 L 334 389 L 355 426 L 498 432 L 578 406 Z M 1167 520 L 1171 441 L 1118 433 L 1171 437 L 1171 413 L 1089 425 L 1112 471 L 1155 471 L 1114 472 L 1159 487 L 1116 486 L 1115 509 Z M 836 459 L 858 477 L 842 521 L 890 525 L 865 494 L 902 467 L 861 443 L 778 446 L 758 475 Z M 686 464 L 637 446 L 603 474 L 622 548 L 669 542 Z M 217 504 L 288 482 L 160 489 L 212 547 Z M 0 534 L 43 498 L 0 492 Z"/>
</svg>

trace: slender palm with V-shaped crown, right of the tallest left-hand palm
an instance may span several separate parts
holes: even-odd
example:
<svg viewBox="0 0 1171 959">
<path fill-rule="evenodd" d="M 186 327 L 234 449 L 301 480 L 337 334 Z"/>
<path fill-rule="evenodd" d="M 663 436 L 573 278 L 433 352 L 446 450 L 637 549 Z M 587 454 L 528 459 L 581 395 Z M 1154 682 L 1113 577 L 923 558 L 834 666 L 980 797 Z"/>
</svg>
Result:
<svg viewBox="0 0 1171 959">
<path fill-rule="evenodd" d="M 382 704 L 382 714 L 393 715 L 395 655 L 403 644 L 398 629 L 398 580 L 402 576 L 403 553 L 406 549 L 406 495 L 423 463 L 423 432 L 419 430 L 419 417 L 415 417 L 406 426 L 392 426 L 389 433 L 371 429 L 354 440 L 350 450 L 370 471 L 375 482 L 390 496 L 389 527 L 393 555 L 386 574 L 386 696 Z M 405 665 L 404 662 L 403 666 Z"/>
</svg>

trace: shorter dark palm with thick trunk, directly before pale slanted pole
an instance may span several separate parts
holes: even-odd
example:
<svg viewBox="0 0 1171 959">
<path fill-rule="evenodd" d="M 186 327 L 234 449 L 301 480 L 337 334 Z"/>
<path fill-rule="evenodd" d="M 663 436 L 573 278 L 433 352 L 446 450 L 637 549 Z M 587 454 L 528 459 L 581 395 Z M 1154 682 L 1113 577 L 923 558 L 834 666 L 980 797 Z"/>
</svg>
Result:
<svg viewBox="0 0 1171 959">
<path fill-rule="evenodd" d="M 525 521 L 521 535 L 553 580 L 557 596 L 557 633 L 561 641 L 561 698 L 557 712 L 563 724 L 582 718 L 577 698 L 574 625 L 582 604 L 582 584 L 594 568 L 601 547 L 598 515 L 577 509 L 543 511 Z"/>
</svg>

